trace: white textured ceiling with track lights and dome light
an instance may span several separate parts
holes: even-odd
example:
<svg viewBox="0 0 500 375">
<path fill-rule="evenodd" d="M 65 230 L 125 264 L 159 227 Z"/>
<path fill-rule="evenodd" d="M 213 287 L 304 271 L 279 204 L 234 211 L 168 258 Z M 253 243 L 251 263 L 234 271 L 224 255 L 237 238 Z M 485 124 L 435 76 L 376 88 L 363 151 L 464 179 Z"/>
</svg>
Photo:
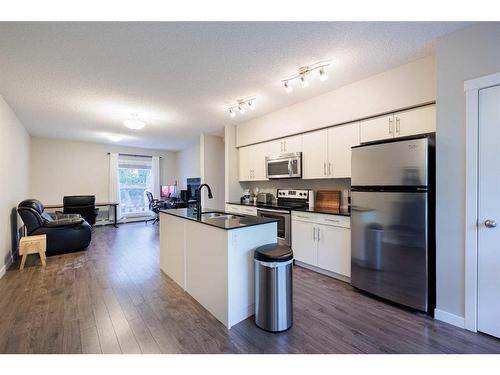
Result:
<svg viewBox="0 0 500 375">
<path fill-rule="evenodd" d="M 450 22 L 0 23 L 0 94 L 30 134 L 179 150 L 220 131 L 433 52 Z M 280 80 L 331 59 L 329 79 Z M 381 93 L 383 94 L 383 93 Z M 230 119 L 237 98 L 257 109 Z M 121 121 L 137 113 L 140 131 Z"/>
</svg>

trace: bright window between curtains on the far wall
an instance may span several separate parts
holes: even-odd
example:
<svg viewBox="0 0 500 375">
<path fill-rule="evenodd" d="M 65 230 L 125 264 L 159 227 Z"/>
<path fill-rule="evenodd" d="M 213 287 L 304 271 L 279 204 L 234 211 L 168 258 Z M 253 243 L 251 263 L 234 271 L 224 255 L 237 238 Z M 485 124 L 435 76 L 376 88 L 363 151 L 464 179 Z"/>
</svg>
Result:
<svg viewBox="0 0 500 375">
<path fill-rule="evenodd" d="M 122 216 L 149 216 L 146 191 L 152 191 L 153 186 L 151 159 L 120 155 L 118 181 Z"/>
</svg>

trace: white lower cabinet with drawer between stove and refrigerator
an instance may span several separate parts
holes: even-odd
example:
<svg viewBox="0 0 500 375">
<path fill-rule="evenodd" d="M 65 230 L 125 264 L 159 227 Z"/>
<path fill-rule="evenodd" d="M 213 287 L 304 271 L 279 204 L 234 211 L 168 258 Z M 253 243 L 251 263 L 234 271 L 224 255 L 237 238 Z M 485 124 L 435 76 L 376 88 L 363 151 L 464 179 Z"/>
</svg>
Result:
<svg viewBox="0 0 500 375">
<path fill-rule="evenodd" d="M 350 277 L 350 219 L 293 212 L 292 249 L 299 262 Z"/>
</svg>

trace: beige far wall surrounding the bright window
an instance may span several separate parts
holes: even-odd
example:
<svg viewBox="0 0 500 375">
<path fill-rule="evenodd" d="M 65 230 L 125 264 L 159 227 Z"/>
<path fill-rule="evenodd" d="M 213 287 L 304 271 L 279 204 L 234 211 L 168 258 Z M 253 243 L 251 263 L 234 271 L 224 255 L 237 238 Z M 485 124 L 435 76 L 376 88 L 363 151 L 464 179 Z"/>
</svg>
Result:
<svg viewBox="0 0 500 375">
<path fill-rule="evenodd" d="M 161 184 L 175 182 L 174 152 L 33 137 L 31 196 L 45 204 L 62 203 L 64 195 L 78 194 L 93 194 L 97 201 L 107 201 L 109 199 L 108 152 L 161 156 Z"/>
</svg>

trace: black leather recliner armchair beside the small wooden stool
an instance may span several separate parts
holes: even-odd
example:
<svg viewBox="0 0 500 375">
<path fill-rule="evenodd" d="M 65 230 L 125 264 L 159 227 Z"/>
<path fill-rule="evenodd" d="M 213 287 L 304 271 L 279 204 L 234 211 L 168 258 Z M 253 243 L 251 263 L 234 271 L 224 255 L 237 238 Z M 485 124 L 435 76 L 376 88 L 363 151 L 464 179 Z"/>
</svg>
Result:
<svg viewBox="0 0 500 375">
<path fill-rule="evenodd" d="M 92 239 L 92 227 L 80 215 L 49 215 L 39 200 L 22 201 L 17 212 L 28 236 L 47 235 L 47 255 L 83 250 Z"/>
</svg>

